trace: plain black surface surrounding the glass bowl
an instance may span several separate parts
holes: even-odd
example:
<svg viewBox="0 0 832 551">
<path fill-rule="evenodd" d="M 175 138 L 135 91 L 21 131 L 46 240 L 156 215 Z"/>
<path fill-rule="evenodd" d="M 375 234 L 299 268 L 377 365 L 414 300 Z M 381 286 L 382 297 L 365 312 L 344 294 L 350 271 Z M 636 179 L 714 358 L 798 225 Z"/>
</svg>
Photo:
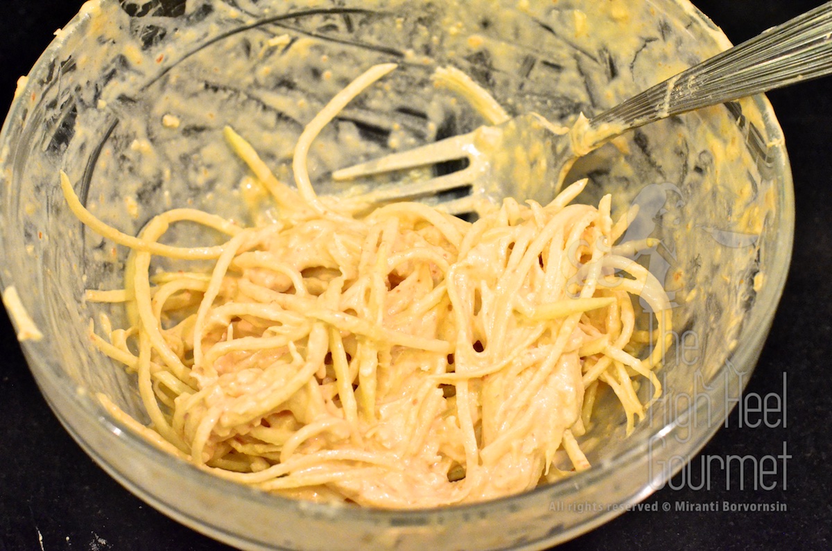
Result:
<svg viewBox="0 0 832 551">
<path fill-rule="evenodd" d="M 820 4 L 817 0 L 698 0 L 735 42 Z M 0 112 L 82 2 L 2 0 Z M 748 392 L 783 395 L 787 428 L 740 428 L 735 410 L 703 454 L 780 454 L 786 486 L 754 492 L 726 489 L 720 473 L 710 491 L 656 492 L 658 512 L 631 512 L 562 549 L 832 549 L 832 81 L 770 93 L 795 176 L 797 228 L 790 278 Z M 695 462 L 696 464 L 696 462 Z M 746 483 L 750 479 L 746 479 Z M 778 513 L 682 512 L 676 503 L 783 503 Z M 662 512 L 663 504 L 670 512 Z M 110 479 L 58 424 L 0 314 L 0 551 L 26 549 L 228 549 L 157 513 Z"/>
</svg>

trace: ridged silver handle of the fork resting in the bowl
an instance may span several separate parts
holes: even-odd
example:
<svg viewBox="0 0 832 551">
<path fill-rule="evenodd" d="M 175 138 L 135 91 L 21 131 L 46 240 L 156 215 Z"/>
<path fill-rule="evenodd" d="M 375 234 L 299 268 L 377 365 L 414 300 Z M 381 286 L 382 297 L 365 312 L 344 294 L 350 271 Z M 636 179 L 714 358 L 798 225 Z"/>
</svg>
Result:
<svg viewBox="0 0 832 551">
<path fill-rule="evenodd" d="M 832 2 L 711 57 L 593 117 L 598 145 L 679 113 L 823 77 L 832 72 Z M 602 127 L 602 125 L 608 125 Z M 622 125 L 624 128 L 622 128 Z"/>
</svg>

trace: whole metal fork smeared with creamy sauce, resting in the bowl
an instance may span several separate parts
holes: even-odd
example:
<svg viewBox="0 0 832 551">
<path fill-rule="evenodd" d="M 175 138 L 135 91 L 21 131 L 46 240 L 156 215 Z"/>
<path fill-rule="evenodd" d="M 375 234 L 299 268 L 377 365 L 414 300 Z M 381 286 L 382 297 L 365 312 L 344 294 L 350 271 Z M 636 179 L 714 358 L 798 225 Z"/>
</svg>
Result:
<svg viewBox="0 0 832 551">
<path fill-rule="evenodd" d="M 423 181 L 375 186 L 355 199 L 369 204 L 419 200 L 453 214 L 481 212 L 503 198 L 552 201 L 577 157 L 633 128 L 701 107 L 752 96 L 832 72 L 832 2 L 731 47 L 631 97 L 582 119 L 565 132 L 537 114 L 436 141 L 333 173 L 353 180 L 444 161 L 468 159 L 461 171 Z M 467 196 L 437 194 L 470 187 Z"/>
</svg>

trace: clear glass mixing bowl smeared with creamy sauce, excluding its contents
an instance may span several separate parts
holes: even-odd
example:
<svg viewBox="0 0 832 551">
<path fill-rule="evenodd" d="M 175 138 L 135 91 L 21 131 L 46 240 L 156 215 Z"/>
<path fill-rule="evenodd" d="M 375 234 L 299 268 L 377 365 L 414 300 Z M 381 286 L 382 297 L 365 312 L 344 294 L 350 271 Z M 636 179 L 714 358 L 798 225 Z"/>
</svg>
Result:
<svg viewBox="0 0 832 551">
<path fill-rule="evenodd" d="M 124 7 L 122 7 L 122 4 Z M 136 382 L 93 350 L 89 320 L 118 309 L 83 291 L 116 289 L 126 251 L 85 230 L 58 186 L 135 234 L 174 206 L 245 222 L 235 127 L 290 181 L 296 138 L 320 107 L 378 62 L 399 69 L 355 100 L 310 156 L 326 176 L 391 148 L 481 124 L 433 87 L 454 65 L 513 114 L 555 122 L 596 113 L 728 46 L 686 0 L 92 0 L 18 89 L 0 137 L 3 289 L 42 331 L 22 343 L 58 419 L 126 488 L 172 518 L 244 549 L 540 549 L 602 524 L 661 487 L 722 424 L 760 354 L 789 266 L 794 204 L 774 113 L 754 97 L 632 132 L 578 162 L 582 201 L 640 207 L 636 259 L 665 282 L 674 345 L 662 399 L 624 437 L 602 397 L 585 439 L 592 469 L 488 503 L 384 511 L 283 499 L 215 479 L 156 449 L 96 399 L 146 421 Z M 178 242 L 204 242 L 178 228 Z M 12 312 L 14 315 L 15 312 Z M 649 389 L 641 389 L 642 398 Z"/>
</svg>

